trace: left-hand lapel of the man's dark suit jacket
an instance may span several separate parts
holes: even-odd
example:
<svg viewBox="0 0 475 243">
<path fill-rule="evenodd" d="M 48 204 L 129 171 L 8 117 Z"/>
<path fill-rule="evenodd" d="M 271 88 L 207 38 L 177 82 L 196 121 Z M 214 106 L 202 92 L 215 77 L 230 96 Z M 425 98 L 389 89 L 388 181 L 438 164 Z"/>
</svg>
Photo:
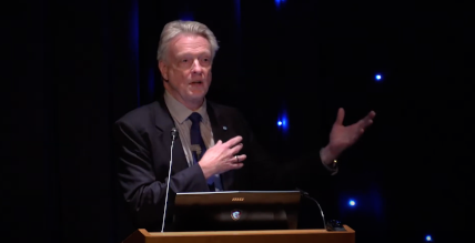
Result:
<svg viewBox="0 0 475 243">
<path fill-rule="evenodd" d="M 163 97 L 159 99 L 155 105 L 155 126 L 159 130 L 159 140 L 160 143 L 164 144 L 161 150 L 162 160 L 168 160 L 170 162 L 170 148 L 172 144 L 171 130 L 175 126 L 173 119 L 170 114 L 169 109 L 166 108 Z M 186 156 L 184 155 L 183 145 L 181 143 L 180 136 L 178 136 L 173 144 L 173 164 L 172 164 L 172 174 L 175 174 L 188 168 Z"/>
</svg>

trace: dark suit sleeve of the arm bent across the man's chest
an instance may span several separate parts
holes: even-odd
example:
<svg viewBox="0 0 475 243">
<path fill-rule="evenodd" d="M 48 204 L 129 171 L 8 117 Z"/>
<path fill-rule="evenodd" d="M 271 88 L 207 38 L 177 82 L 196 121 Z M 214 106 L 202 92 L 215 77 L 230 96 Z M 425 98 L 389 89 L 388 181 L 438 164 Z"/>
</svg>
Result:
<svg viewBox="0 0 475 243">
<path fill-rule="evenodd" d="M 149 229 L 161 223 L 166 194 L 166 182 L 155 178 L 148 135 L 125 122 L 117 122 L 114 136 L 118 145 L 118 180 L 123 198 L 138 227 Z M 168 170 L 166 170 L 168 175 Z M 199 165 L 190 166 L 170 180 L 169 203 L 176 192 L 209 191 Z M 172 203 L 168 215 L 173 215 Z"/>
</svg>

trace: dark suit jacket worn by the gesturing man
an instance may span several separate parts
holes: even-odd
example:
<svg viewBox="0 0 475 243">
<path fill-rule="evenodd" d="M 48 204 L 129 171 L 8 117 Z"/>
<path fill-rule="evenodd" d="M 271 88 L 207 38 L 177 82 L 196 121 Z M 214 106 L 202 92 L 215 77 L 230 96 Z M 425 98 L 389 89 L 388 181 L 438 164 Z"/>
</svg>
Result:
<svg viewBox="0 0 475 243">
<path fill-rule="evenodd" d="M 257 144 L 238 110 L 208 101 L 214 141 L 243 136 L 246 154 L 241 170 L 222 174 L 225 191 L 295 189 L 303 172 L 309 176 L 329 176 L 317 153 L 312 161 L 275 166 Z M 170 131 L 173 119 L 163 99 L 138 108 L 114 124 L 118 144 L 118 178 L 121 193 L 131 210 L 135 227 L 160 231 L 170 166 Z M 223 129 L 226 126 L 226 130 Z M 312 172 L 311 174 L 309 172 Z M 285 173 L 285 176 L 283 174 Z M 168 222 L 173 215 L 173 196 L 178 192 L 209 191 L 201 168 L 188 165 L 180 138 L 173 149 Z"/>
</svg>

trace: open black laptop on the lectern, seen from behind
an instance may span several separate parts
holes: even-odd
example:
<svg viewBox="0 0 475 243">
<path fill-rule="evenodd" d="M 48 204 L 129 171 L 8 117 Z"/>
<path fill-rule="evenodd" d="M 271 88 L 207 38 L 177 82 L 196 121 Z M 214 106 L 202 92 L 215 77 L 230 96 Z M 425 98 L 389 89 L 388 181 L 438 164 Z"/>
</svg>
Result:
<svg viewBox="0 0 475 243">
<path fill-rule="evenodd" d="M 173 231 L 295 230 L 300 191 L 176 193 Z"/>
</svg>

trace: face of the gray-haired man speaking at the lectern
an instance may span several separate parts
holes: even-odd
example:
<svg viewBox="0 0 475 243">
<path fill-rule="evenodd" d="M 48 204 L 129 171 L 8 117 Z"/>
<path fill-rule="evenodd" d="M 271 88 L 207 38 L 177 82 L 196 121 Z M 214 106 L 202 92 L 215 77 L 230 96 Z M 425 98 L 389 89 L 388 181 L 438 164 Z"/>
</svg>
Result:
<svg viewBox="0 0 475 243">
<path fill-rule="evenodd" d="M 186 107 L 196 109 L 211 84 L 211 45 L 201 36 L 180 34 L 169 43 L 166 61 L 159 68 L 165 90 Z M 198 105 L 198 107 L 196 107 Z"/>
</svg>

